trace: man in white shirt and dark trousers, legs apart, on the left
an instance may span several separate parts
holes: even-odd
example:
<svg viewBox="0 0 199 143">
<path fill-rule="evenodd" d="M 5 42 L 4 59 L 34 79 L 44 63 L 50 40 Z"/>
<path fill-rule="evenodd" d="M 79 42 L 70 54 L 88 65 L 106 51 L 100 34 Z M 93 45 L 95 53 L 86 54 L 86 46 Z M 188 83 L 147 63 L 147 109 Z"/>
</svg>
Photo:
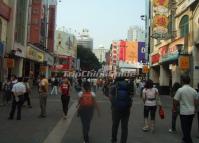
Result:
<svg viewBox="0 0 199 143">
<path fill-rule="evenodd" d="M 12 101 L 10 116 L 8 118 L 9 120 L 13 119 L 16 107 L 17 107 L 17 120 L 21 120 L 21 106 L 23 105 L 24 101 L 24 93 L 26 92 L 26 87 L 22 81 L 23 81 L 22 77 L 18 78 L 18 82 L 15 83 L 12 87 L 13 101 Z"/>
</svg>

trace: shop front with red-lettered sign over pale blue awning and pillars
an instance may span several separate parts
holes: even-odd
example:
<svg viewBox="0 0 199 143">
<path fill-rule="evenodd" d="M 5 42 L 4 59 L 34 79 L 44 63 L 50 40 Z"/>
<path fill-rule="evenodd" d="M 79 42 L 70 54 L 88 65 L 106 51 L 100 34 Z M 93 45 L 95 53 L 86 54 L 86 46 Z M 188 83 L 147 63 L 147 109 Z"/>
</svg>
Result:
<svg viewBox="0 0 199 143">
<path fill-rule="evenodd" d="M 179 68 L 179 52 L 177 45 L 184 44 L 184 38 L 160 48 L 160 88 L 163 92 L 170 91 L 175 82 L 180 82 L 182 71 Z"/>
</svg>

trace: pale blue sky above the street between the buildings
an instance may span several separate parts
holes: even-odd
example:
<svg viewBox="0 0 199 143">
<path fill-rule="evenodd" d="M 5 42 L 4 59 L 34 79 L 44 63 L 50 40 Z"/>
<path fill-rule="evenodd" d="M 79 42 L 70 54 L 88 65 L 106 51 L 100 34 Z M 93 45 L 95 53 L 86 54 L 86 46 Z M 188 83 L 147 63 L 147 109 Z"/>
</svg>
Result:
<svg viewBox="0 0 199 143">
<path fill-rule="evenodd" d="M 103 45 L 108 49 L 113 40 L 127 38 L 130 26 L 144 29 L 140 18 L 144 14 L 145 0 L 61 0 L 57 5 L 56 26 L 64 26 L 72 33 L 86 28 L 94 40 L 94 48 Z"/>
</svg>

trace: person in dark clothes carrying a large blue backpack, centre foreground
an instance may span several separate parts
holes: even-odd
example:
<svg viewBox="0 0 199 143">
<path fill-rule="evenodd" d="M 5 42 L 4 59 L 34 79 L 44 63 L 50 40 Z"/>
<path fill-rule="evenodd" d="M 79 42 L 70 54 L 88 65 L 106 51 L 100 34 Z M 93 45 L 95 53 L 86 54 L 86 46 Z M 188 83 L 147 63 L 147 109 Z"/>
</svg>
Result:
<svg viewBox="0 0 199 143">
<path fill-rule="evenodd" d="M 120 143 L 127 142 L 128 121 L 130 109 L 132 106 L 132 97 L 134 94 L 131 86 L 125 77 L 116 77 L 115 82 L 110 87 L 110 101 L 112 110 L 112 143 L 117 142 L 118 127 L 121 122 L 121 139 Z"/>
</svg>

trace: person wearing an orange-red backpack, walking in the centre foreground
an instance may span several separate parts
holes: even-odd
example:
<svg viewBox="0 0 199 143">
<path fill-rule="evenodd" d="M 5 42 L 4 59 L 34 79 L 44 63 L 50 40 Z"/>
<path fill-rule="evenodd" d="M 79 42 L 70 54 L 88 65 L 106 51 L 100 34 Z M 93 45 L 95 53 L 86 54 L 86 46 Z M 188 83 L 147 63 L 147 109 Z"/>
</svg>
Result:
<svg viewBox="0 0 199 143">
<path fill-rule="evenodd" d="M 91 120 L 93 118 L 94 107 L 97 109 L 98 115 L 100 115 L 100 112 L 95 99 L 96 95 L 91 91 L 91 84 L 89 82 L 85 82 L 83 84 L 83 88 L 84 90 L 78 94 L 78 116 L 82 123 L 84 142 L 89 143 L 89 131 Z"/>
</svg>

